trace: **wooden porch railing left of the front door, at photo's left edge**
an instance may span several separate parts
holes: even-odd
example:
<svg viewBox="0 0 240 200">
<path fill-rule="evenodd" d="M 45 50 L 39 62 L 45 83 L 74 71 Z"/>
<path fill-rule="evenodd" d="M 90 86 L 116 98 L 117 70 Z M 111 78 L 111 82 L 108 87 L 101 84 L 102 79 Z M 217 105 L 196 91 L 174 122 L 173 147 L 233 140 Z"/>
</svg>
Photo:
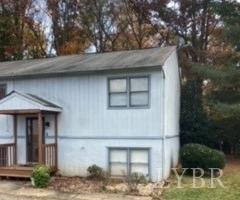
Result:
<svg viewBox="0 0 240 200">
<path fill-rule="evenodd" d="M 0 167 L 9 167 L 16 163 L 15 144 L 0 144 Z"/>
</svg>

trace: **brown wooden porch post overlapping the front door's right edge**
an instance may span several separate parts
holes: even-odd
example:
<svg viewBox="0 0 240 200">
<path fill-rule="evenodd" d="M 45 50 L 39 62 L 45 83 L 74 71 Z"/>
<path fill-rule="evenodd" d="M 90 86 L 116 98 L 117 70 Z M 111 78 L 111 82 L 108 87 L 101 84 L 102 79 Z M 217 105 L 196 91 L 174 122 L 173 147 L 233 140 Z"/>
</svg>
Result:
<svg viewBox="0 0 240 200">
<path fill-rule="evenodd" d="M 38 113 L 38 162 L 43 164 L 43 122 L 42 122 L 42 113 Z"/>
</svg>

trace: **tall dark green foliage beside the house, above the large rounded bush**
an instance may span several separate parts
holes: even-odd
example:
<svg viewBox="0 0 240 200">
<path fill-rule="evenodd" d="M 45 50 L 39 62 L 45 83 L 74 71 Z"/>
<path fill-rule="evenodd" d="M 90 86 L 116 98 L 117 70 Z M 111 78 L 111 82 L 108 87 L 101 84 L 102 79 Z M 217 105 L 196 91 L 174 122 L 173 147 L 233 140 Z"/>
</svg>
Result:
<svg viewBox="0 0 240 200">
<path fill-rule="evenodd" d="M 209 134 L 210 122 L 203 108 L 201 86 L 201 83 L 194 79 L 182 85 L 181 144 L 199 143 L 214 147 L 215 138 Z"/>
</svg>

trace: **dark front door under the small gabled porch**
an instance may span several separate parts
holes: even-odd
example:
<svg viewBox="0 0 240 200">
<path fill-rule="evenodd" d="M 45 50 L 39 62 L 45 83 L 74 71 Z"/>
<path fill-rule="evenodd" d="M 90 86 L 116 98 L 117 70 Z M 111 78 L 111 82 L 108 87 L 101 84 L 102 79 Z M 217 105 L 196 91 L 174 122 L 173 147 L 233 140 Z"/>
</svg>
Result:
<svg viewBox="0 0 240 200">
<path fill-rule="evenodd" d="M 27 118 L 26 120 L 27 120 L 26 121 L 27 163 L 37 163 L 38 162 L 38 119 L 31 117 L 31 118 Z M 42 138 L 44 142 L 44 135 Z"/>
</svg>

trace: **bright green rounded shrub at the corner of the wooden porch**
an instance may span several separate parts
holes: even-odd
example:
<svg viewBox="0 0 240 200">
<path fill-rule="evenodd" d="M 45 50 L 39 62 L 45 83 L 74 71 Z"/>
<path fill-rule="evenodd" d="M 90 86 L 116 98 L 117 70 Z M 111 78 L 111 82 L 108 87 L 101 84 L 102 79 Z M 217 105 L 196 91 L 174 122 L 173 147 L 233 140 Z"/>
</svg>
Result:
<svg viewBox="0 0 240 200">
<path fill-rule="evenodd" d="M 34 180 L 35 187 L 47 187 L 51 178 L 49 168 L 44 165 L 34 167 L 32 178 Z"/>
</svg>

